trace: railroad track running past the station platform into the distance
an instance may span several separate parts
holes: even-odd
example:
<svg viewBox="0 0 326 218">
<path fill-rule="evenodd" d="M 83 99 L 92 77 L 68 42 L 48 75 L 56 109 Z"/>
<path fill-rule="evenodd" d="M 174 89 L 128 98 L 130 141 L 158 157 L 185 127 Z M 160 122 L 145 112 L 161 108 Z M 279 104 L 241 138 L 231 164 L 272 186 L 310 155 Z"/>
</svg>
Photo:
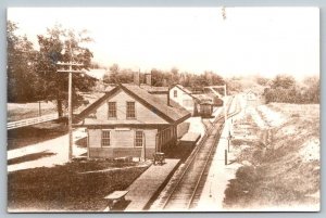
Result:
<svg viewBox="0 0 326 218">
<path fill-rule="evenodd" d="M 234 98 L 228 104 L 228 117 L 236 115 L 238 112 L 238 103 L 236 110 L 229 113 Z M 161 208 L 163 210 L 184 211 L 195 208 L 200 198 L 205 178 L 210 168 L 213 153 L 221 137 L 224 125 L 224 116 L 218 116 L 208 131 L 201 143 L 197 145 L 185 163 L 184 170 L 172 187 L 171 192 L 164 198 Z"/>
</svg>

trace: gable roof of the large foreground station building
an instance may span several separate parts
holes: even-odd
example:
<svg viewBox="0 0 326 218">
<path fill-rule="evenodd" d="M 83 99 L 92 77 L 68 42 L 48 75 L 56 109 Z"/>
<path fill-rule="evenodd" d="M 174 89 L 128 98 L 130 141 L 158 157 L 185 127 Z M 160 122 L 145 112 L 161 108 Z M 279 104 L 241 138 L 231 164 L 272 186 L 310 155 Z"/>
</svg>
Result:
<svg viewBox="0 0 326 218">
<path fill-rule="evenodd" d="M 152 112 L 164 118 L 168 123 L 181 123 L 190 117 L 190 113 L 186 110 L 180 110 L 175 106 L 167 106 L 162 100 L 153 94 L 150 94 L 145 89 L 139 88 L 136 85 L 121 84 L 106 92 L 93 104 L 85 108 L 78 116 L 77 119 L 83 119 L 91 111 L 96 110 L 108 98 L 116 93 L 118 90 L 125 91 L 127 94 L 134 97 L 138 102 L 150 108 Z"/>
</svg>

